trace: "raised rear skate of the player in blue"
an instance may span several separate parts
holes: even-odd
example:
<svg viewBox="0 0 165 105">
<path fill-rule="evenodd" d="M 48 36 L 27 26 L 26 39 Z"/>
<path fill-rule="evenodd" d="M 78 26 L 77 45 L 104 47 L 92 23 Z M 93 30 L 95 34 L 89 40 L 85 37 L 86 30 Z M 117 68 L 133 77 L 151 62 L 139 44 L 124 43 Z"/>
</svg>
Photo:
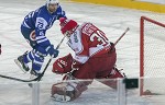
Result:
<svg viewBox="0 0 165 105">
<path fill-rule="evenodd" d="M 30 68 L 28 66 L 25 66 L 25 63 L 23 62 L 23 56 L 18 57 L 18 59 L 14 59 L 14 62 L 18 65 L 18 67 L 24 72 L 26 73 Z"/>
</svg>

